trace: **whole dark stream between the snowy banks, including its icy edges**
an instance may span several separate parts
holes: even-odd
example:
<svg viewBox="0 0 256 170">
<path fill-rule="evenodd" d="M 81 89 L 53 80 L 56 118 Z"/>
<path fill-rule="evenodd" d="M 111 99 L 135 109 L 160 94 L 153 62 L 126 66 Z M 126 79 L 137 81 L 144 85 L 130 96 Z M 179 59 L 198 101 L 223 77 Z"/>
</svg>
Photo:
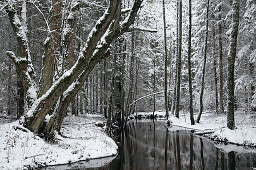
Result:
<svg viewBox="0 0 256 170">
<path fill-rule="evenodd" d="M 128 123 L 119 155 L 47 169 L 253 169 L 256 150 L 215 144 L 162 122 Z M 255 168 L 256 169 L 256 168 Z"/>
</svg>

